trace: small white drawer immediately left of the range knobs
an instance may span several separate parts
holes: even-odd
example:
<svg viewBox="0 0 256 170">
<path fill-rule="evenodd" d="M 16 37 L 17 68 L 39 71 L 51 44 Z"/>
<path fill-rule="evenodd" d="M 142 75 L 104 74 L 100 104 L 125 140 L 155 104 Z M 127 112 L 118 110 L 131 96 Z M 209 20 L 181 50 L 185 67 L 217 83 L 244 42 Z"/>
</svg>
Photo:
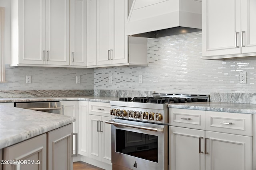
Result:
<svg viewBox="0 0 256 170">
<path fill-rule="evenodd" d="M 104 102 L 89 102 L 89 114 L 110 117 L 110 104 Z"/>
</svg>

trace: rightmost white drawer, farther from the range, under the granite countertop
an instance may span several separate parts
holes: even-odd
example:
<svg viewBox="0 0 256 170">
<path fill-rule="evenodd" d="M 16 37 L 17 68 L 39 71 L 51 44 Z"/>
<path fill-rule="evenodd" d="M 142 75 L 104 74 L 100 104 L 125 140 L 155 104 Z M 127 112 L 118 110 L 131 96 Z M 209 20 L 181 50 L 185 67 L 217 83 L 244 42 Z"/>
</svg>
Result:
<svg viewBox="0 0 256 170">
<path fill-rule="evenodd" d="M 252 114 L 206 111 L 206 130 L 252 136 Z"/>
</svg>

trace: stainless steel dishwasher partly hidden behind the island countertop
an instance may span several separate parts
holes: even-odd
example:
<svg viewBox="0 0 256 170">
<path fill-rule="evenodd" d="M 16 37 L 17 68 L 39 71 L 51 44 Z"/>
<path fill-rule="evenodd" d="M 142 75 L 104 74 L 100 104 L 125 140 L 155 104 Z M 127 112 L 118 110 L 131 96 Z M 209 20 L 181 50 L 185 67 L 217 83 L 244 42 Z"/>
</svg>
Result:
<svg viewBox="0 0 256 170">
<path fill-rule="evenodd" d="M 60 114 L 61 106 L 59 101 L 51 102 L 15 102 L 14 107 L 23 109 L 44 111 L 48 113 Z"/>
</svg>

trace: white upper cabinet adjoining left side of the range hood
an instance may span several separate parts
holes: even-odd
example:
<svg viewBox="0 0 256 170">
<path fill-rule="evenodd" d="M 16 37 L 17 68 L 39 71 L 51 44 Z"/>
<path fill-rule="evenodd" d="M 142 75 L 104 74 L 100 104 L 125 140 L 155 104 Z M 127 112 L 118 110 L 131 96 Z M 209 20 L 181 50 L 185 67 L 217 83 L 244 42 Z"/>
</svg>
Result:
<svg viewBox="0 0 256 170">
<path fill-rule="evenodd" d="M 127 0 L 88 0 L 87 65 L 146 65 L 147 39 L 127 37 Z"/>
</svg>

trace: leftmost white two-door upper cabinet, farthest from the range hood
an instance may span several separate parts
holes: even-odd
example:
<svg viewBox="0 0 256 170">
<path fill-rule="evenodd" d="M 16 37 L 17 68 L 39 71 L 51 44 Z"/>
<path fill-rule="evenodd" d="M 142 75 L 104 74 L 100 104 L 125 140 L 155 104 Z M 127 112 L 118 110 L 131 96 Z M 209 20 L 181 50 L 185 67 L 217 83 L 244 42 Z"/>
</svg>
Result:
<svg viewBox="0 0 256 170">
<path fill-rule="evenodd" d="M 12 0 L 12 64 L 69 65 L 69 0 Z"/>
</svg>

